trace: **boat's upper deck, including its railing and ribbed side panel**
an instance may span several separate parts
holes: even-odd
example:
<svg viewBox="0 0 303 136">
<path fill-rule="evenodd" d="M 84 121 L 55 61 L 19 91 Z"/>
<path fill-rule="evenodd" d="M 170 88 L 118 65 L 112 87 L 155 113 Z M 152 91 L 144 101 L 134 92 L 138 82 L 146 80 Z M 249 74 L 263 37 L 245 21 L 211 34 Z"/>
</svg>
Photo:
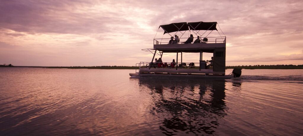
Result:
<svg viewBox="0 0 303 136">
<path fill-rule="evenodd" d="M 226 37 L 207 37 L 208 41 L 203 41 L 203 38 L 201 37 L 200 43 L 193 42 L 191 44 L 184 44 L 188 38 L 179 38 L 180 42 L 177 44 L 168 44 L 168 41 L 170 39 L 164 38 L 164 39 L 154 39 L 154 49 L 160 50 L 164 52 L 200 52 L 200 50 L 204 50 L 205 52 L 208 52 L 209 50 L 214 50 L 215 48 L 225 48 L 226 47 Z M 196 40 L 197 38 L 194 38 Z"/>
</svg>

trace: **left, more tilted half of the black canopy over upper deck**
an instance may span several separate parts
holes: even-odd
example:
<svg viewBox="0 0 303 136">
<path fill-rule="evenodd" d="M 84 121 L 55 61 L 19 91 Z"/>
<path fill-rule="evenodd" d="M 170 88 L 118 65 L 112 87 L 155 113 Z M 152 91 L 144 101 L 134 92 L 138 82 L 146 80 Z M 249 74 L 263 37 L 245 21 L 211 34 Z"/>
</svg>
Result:
<svg viewBox="0 0 303 136">
<path fill-rule="evenodd" d="M 160 25 L 159 28 L 160 27 L 163 30 L 165 30 L 164 34 L 171 33 L 171 32 L 176 32 L 176 31 L 187 31 L 187 30 L 189 30 L 188 29 L 188 24 L 186 22 L 165 24 L 165 25 Z"/>
</svg>

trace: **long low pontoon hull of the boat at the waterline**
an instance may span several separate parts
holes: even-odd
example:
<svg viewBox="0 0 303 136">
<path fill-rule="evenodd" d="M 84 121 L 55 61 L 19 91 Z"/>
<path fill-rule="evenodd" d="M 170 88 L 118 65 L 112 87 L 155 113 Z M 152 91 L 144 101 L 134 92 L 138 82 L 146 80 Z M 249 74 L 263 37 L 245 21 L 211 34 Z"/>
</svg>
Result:
<svg viewBox="0 0 303 136">
<path fill-rule="evenodd" d="M 186 79 L 214 79 L 225 80 L 231 79 L 233 75 L 193 75 L 193 74 L 154 74 L 154 73 L 129 73 L 132 77 L 148 77 L 148 78 L 186 78 Z"/>
</svg>

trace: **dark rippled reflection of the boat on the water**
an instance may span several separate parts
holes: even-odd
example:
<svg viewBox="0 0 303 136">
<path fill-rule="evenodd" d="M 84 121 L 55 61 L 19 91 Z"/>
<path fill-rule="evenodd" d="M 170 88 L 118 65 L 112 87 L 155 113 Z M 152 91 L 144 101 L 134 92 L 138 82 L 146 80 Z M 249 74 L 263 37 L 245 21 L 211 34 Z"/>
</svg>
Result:
<svg viewBox="0 0 303 136">
<path fill-rule="evenodd" d="M 213 134 L 227 115 L 225 81 L 137 79 L 140 91 L 151 95 L 150 113 L 166 135 Z"/>
</svg>

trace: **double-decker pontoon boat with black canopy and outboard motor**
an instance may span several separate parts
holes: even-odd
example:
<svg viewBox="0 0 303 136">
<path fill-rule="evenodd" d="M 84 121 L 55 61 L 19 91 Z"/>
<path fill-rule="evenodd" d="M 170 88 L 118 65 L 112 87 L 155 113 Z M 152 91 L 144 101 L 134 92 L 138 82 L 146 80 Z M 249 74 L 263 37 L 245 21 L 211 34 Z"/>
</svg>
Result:
<svg viewBox="0 0 303 136">
<path fill-rule="evenodd" d="M 180 32 L 182 35 L 178 37 L 177 40 L 175 37 L 175 40 L 171 42 L 168 42 L 171 38 L 154 39 L 153 48 L 142 49 L 143 51 L 153 53 L 151 62 L 136 63 L 136 66 L 139 67 L 138 71 L 136 70 L 136 73 L 129 73 L 129 75 L 140 77 L 189 77 L 206 79 L 230 79 L 241 76 L 241 69 L 234 69 L 231 74 L 225 75 L 226 36 L 219 27 L 222 34 L 224 34 L 224 36 L 221 36 L 216 26 L 217 22 L 181 22 L 160 25 L 159 29 L 162 28 L 164 34 L 170 35 L 171 38 L 173 38 L 177 32 Z M 208 37 L 214 30 L 218 31 L 220 37 Z M 195 42 L 193 42 L 193 40 L 189 40 L 188 42 L 188 40 L 186 40 L 187 38 L 181 38 L 186 31 L 199 36 L 200 41 L 195 40 Z M 205 32 L 201 35 L 199 33 L 200 31 Z M 203 37 L 206 32 L 209 33 Z M 171 35 L 171 33 L 175 34 Z M 182 62 L 183 52 L 200 53 L 199 62 Z M 163 53 L 176 53 L 175 63 L 153 62 L 156 54 L 162 58 Z M 213 53 L 213 60 L 203 60 L 203 53 Z M 181 54 L 181 62 L 178 60 L 179 54 Z M 197 64 L 198 66 L 196 66 Z"/>
</svg>

